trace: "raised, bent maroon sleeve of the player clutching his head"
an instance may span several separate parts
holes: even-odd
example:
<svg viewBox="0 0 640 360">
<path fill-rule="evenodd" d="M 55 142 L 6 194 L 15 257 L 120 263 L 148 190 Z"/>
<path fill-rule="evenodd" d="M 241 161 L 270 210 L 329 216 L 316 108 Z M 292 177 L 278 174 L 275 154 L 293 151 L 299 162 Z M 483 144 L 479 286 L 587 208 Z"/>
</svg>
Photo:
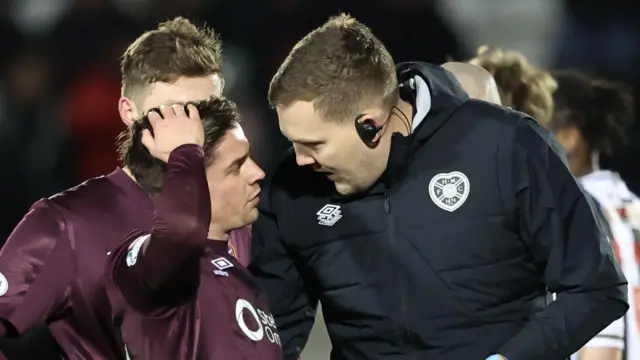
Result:
<svg viewBox="0 0 640 360">
<path fill-rule="evenodd" d="M 163 316 L 194 296 L 210 220 L 204 152 L 183 145 L 169 157 L 151 234 L 129 234 L 110 256 L 107 278 L 116 295 L 147 316 Z"/>
</svg>

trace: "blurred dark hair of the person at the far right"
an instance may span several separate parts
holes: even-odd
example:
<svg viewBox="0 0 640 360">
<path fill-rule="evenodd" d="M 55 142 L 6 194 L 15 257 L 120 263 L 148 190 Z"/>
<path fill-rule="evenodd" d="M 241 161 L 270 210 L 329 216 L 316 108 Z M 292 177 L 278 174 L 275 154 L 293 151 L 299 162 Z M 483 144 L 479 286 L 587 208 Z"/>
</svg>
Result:
<svg viewBox="0 0 640 360">
<path fill-rule="evenodd" d="M 554 71 L 552 76 L 558 83 L 552 129 L 575 126 L 592 151 L 609 155 L 627 141 L 635 116 L 631 87 L 573 70 Z"/>
</svg>

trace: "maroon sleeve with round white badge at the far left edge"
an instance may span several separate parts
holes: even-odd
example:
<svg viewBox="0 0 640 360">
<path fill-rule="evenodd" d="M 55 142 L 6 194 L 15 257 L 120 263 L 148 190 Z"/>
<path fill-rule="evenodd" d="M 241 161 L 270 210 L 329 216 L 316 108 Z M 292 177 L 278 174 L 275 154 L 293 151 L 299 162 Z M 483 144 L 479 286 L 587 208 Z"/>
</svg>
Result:
<svg viewBox="0 0 640 360">
<path fill-rule="evenodd" d="M 67 224 L 35 203 L 0 251 L 0 334 L 18 336 L 64 309 L 73 267 Z"/>
</svg>

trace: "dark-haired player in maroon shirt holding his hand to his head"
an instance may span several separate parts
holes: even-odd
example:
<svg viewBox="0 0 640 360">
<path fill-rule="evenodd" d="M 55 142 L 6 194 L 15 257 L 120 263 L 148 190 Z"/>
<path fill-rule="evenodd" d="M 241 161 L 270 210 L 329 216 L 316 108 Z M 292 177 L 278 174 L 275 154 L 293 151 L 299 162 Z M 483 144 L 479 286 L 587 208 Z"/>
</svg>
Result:
<svg viewBox="0 0 640 360">
<path fill-rule="evenodd" d="M 123 317 L 129 356 L 281 359 L 267 298 L 227 250 L 230 232 L 256 220 L 264 177 L 235 105 L 215 98 L 158 112 L 149 114 L 153 136 L 142 136 L 167 163 L 153 230 L 127 236 L 107 267 L 110 298 L 133 309 Z M 214 143 L 204 142 L 202 124 Z"/>
</svg>

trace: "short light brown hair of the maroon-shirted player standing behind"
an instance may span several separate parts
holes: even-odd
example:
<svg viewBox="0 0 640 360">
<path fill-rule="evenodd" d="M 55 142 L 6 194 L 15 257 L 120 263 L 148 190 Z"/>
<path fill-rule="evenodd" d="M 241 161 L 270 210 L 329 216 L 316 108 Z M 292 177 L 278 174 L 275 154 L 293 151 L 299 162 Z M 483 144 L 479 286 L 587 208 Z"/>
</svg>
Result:
<svg viewBox="0 0 640 360">
<path fill-rule="evenodd" d="M 160 23 L 122 55 L 122 96 L 134 99 L 158 81 L 218 74 L 221 55 L 221 42 L 212 29 L 197 27 L 183 17 Z"/>
</svg>

